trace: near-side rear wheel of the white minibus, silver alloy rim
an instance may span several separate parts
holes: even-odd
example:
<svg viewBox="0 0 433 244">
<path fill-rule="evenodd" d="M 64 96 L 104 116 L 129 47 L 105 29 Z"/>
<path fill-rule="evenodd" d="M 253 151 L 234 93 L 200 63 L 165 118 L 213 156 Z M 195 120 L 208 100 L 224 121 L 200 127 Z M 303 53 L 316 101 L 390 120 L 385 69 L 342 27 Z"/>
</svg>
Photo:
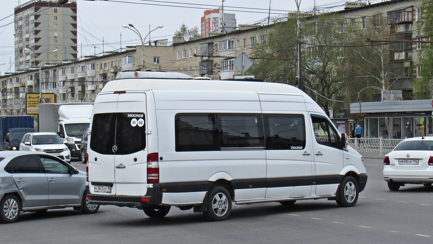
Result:
<svg viewBox="0 0 433 244">
<path fill-rule="evenodd" d="M 232 196 L 221 186 L 213 187 L 207 195 L 207 210 L 203 215 L 210 221 L 226 220 L 232 211 Z"/>
</svg>

